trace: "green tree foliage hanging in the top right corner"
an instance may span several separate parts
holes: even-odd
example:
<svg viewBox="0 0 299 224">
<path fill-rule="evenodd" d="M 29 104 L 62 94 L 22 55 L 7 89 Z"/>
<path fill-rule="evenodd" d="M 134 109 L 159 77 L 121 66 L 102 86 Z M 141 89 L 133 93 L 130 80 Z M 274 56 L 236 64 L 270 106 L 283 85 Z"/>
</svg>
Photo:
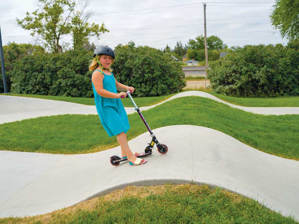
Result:
<svg viewBox="0 0 299 224">
<path fill-rule="evenodd" d="M 270 15 L 271 24 L 282 38 L 299 40 L 299 0 L 276 0 Z"/>
</svg>

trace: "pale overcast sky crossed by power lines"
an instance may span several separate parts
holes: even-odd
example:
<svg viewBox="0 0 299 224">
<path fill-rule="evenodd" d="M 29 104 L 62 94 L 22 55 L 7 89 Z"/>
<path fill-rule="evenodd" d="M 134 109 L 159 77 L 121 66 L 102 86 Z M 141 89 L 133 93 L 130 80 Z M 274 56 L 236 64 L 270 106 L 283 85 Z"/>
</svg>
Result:
<svg viewBox="0 0 299 224">
<path fill-rule="evenodd" d="M 270 24 L 269 15 L 273 4 L 274 1 L 260 0 L 207 2 L 207 36 L 216 35 L 229 47 L 248 44 L 286 45 L 287 41 Z M 16 17 L 24 18 L 26 11 L 31 14 L 37 8 L 36 0 L 10 0 L 0 5 L 3 45 L 8 42 L 33 43 L 30 31 L 23 30 L 15 20 Z M 188 39 L 204 34 L 203 4 L 197 1 L 91 0 L 88 10 L 94 11 L 89 22 L 104 22 L 110 30 L 109 33 L 101 34 L 100 40 L 94 37 L 90 39 L 96 45 L 104 44 L 114 48 L 132 40 L 136 45 L 163 49 L 168 44 L 174 48 L 177 41 L 185 45 Z M 71 43 L 71 36 L 65 36 L 62 41 Z"/>
</svg>

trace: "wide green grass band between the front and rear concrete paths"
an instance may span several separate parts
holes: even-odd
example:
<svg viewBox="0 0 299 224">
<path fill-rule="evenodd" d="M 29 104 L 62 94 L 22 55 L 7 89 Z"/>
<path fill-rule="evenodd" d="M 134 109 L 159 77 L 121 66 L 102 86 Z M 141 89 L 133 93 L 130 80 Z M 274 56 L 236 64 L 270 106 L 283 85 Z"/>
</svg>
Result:
<svg viewBox="0 0 299 224">
<path fill-rule="evenodd" d="M 198 125 L 228 134 L 253 148 L 299 160 L 299 115 L 259 115 L 211 99 L 188 96 L 142 112 L 152 129 Z M 137 113 L 128 115 L 133 139 L 147 131 Z M 97 115 L 39 117 L 0 125 L 0 150 L 80 154 L 118 145 Z"/>
</svg>

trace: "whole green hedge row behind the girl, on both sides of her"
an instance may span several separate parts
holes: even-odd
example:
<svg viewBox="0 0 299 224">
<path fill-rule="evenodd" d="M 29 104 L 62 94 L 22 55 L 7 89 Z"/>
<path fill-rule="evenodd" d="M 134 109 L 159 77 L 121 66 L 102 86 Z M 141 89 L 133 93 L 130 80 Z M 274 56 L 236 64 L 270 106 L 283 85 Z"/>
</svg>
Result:
<svg viewBox="0 0 299 224">
<path fill-rule="evenodd" d="M 112 65 L 118 82 L 135 87 L 135 96 L 161 96 L 179 92 L 186 83 L 178 62 L 151 47 L 118 45 Z M 87 50 L 28 55 L 9 71 L 12 93 L 93 97 Z M 4 92 L 4 91 L 2 91 Z"/>
</svg>

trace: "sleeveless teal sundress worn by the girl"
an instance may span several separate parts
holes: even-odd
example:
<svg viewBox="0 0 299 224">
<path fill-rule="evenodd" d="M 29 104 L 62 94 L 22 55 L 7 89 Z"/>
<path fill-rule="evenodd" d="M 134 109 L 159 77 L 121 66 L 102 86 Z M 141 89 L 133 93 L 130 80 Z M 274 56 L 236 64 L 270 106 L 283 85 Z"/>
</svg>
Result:
<svg viewBox="0 0 299 224">
<path fill-rule="evenodd" d="M 113 73 L 111 73 L 111 75 L 103 74 L 103 89 L 112 93 L 117 93 Z M 97 94 L 93 83 L 92 88 L 94 91 L 94 102 L 97 108 L 97 113 L 109 137 L 118 135 L 122 132 L 127 133 L 130 125 L 127 113 L 120 98 L 113 99 L 100 96 Z"/>
</svg>

